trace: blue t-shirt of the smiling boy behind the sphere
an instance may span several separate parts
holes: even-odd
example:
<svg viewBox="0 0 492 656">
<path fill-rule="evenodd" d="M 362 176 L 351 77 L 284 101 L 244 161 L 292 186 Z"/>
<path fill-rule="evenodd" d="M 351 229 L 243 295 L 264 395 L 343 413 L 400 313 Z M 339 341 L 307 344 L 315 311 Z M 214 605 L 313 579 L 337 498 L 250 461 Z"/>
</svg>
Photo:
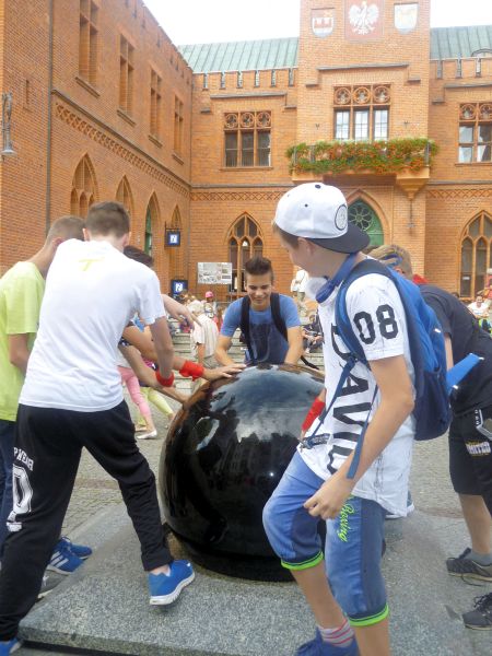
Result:
<svg viewBox="0 0 492 656">
<path fill-rule="evenodd" d="M 280 316 L 285 321 L 286 328 L 301 326 L 297 307 L 292 298 L 279 294 Z M 232 337 L 241 325 L 241 304 L 243 298 L 231 303 L 224 316 L 221 335 Z M 283 364 L 289 351 L 289 342 L 277 330 L 271 315 L 271 307 L 256 312 L 249 307 L 249 339 L 254 351 L 255 362 L 269 362 L 270 364 Z M 246 350 L 245 362 L 251 362 L 251 356 Z"/>
</svg>

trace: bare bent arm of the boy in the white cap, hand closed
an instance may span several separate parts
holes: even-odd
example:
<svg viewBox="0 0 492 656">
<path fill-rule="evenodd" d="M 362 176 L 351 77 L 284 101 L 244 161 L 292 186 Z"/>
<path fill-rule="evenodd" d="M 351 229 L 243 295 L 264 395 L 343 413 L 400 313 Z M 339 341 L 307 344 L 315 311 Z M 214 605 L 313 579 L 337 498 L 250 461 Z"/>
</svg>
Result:
<svg viewBox="0 0 492 656">
<path fill-rule="evenodd" d="M 413 389 L 403 355 L 370 362 L 380 393 L 380 403 L 364 436 L 361 460 L 353 479 L 347 475 L 353 453 L 340 469 L 306 501 L 304 507 L 313 517 L 333 519 L 340 513 L 355 483 L 393 440 L 395 433 L 413 410 Z"/>
</svg>

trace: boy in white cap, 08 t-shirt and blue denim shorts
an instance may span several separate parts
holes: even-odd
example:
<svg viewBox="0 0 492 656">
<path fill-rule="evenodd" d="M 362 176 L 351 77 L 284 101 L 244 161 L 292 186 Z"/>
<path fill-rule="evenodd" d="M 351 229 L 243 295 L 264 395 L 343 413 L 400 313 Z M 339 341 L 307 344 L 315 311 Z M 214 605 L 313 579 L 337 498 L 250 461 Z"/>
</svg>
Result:
<svg viewBox="0 0 492 656">
<path fill-rule="evenodd" d="M 349 356 L 336 325 L 338 286 L 365 259 L 361 250 L 368 237 L 348 221 L 341 191 L 320 183 L 301 185 L 280 199 L 274 231 L 292 262 L 312 277 L 308 293 L 318 301 L 325 335 L 326 390 L 313 403 L 298 450 L 263 511 L 271 546 L 301 586 L 317 623 L 315 640 L 296 654 L 388 656 L 380 572 L 384 518 L 387 512 L 406 515 L 413 442 L 413 367 L 405 311 L 395 285 L 383 276 L 367 274 L 349 286 L 347 313 L 371 368 L 355 364 L 318 427 L 316 418 Z M 360 464 L 349 479 L 367 415 Z M 320 518 L 327 520 L 326 562 Z"/>
</svg>

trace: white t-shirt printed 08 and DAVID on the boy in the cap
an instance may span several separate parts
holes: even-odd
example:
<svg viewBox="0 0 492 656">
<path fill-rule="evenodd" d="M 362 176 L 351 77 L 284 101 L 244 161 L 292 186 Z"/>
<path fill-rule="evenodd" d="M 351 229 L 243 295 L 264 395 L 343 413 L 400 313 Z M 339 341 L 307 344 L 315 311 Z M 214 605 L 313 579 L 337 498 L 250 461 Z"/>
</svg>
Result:
<svg viewBox="0 0 492 656">
<path fill-rule="evenodd" d="M 308 293 L 315 292 L 324 282 L 314 279 L 309 283 Z M 333 293 L 319 305 L 319 319 L 325 336 L 323 350 L 327 406 L 349 355 L 349 349 L 341 340 L 336 325 L 336 297 L 337 294 Z M 358 278 L 347 291 L 347 313 L 366 360 L 371 362 L 403 355 L 413 382 L 405 309 L 395 284 L 376 273 Z M 329 442 L 312 449 L 300 448 L 302 458 L 317 476 L 329 479 L 355 448 L 375 388 L 376 382 L 371 370 L 358 362 L 323 426 L 317 431 L 317 435 L 329 435 Z M 379 402 L 379 394 L 376 394 L 371 418 Z M 307 434 L 314 432 L 317 425 L 318 422 L 315 421 Z M 413 435 L 414 420 L 410 415 L 356 483 L 353 491 L 356 496 L 372 499 L 390 513 L 407 514 Z"/>
</svg>

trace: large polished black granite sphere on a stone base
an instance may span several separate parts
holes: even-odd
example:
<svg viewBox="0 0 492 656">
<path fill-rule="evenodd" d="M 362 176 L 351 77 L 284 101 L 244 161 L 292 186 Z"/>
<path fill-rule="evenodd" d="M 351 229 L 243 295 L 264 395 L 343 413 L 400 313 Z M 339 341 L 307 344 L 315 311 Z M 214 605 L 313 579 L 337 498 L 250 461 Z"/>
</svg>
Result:
<svg viewBox="0 0 492 656">
<path fill-rule="evenodd" d="M 161 456 L 164 515 L 206 566 L 274 555 L 262 509 L 323 382 L 304 367 L 253 366 L 204 385 L 176 417 Z"/>
</svg>

